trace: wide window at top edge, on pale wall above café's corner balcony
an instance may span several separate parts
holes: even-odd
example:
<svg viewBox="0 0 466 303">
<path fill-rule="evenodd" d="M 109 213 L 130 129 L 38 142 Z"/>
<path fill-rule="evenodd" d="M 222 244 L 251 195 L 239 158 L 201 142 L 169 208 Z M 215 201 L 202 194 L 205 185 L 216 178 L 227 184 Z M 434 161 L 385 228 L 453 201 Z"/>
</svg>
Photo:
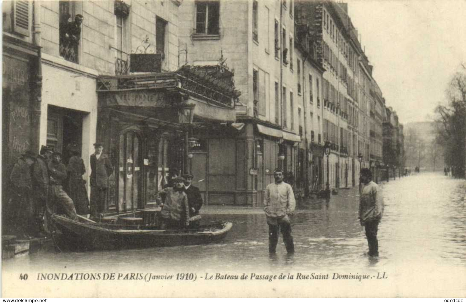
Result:
<svg viewBox="0 0 466 303">
<path fill-rule="evenodd" d="M 219 34 L 220 1 L 196 2 L 196 34 Z"/>
</svg>

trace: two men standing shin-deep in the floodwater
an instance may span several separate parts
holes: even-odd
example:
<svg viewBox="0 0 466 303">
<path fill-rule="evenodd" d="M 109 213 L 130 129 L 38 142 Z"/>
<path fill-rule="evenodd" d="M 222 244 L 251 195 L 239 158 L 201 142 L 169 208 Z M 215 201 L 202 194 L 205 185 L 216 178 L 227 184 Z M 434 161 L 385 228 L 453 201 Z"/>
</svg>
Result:
<svg viewBox="0 0 466 303">
<path fill-rule="evenodd" d="M 268 225 L 268 251 L 275 254 L 278 243 L 278 232 L 281 231 L 288 254 L 295 252 L 293 236 L 291 236 L 290 216 L 295 211 L 295 195 L 291 185 L 283 181 L 283 170 L 274 170 L 275 182 L 267 185 L 264 200 L 264 212 Z M 369 257 L 378 257 L 377 230 L 384 212 L 384 203 L 378 185 L 372 181 L 369 168 L 360 172 L 360 198 L 358 219 L 364 227 Z"/>
</svg>

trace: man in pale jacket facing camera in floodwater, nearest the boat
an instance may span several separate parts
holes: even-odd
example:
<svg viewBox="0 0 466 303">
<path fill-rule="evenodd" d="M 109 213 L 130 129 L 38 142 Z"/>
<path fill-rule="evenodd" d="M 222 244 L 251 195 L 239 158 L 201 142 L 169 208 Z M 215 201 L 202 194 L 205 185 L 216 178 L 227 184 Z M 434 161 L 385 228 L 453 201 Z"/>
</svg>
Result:
<svg viewBox="0 0 466 303">
<path fill-rule="evenodd" d="M 291 185 L 283 182 L 283 170 L 274 170 L 275 182 L 267 185 L 265 191 L 264 211 L 268 224 L 268 252 L 275 253 L 278 243 L 278 230 L 281 230 L 283 242 L 288 254 L 295 252 L 291 236 L 290 215 L 295 211 L 295 195 Z"/>
</svg>

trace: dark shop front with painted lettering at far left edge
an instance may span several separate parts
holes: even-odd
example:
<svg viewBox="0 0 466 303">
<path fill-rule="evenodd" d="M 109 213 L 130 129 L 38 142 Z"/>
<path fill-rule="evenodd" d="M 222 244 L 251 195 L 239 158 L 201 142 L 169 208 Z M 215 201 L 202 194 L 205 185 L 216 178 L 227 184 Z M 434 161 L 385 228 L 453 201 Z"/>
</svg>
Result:
<svg viewBox="0 0 466 303">
<path fill-rule="evenodd" d="M 40 48 L 4 34 L 2 66 L 2 206 L 6 207 L 14 164 L 27 150 L 39 152 Z M 2 213 L 7 215 L 7 210 Z"/>
</svg>

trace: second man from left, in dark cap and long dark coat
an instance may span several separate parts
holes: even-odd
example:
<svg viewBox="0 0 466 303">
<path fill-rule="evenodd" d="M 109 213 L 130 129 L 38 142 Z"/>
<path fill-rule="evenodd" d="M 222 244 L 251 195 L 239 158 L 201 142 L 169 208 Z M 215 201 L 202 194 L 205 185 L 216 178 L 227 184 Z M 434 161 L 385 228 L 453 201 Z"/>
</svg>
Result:
<svg viewBox="0 0 466 303">
<path fill-rule="evenodd" d="M 52 148 L 41 146 L 40 154 L 36 156 L 33 170 L 33 184 L 35 192 L 35 233 L 41 236 L 44 232 L 44 215 L 48 196 L 48 162 L 52 155 Z"/>
</svg>

